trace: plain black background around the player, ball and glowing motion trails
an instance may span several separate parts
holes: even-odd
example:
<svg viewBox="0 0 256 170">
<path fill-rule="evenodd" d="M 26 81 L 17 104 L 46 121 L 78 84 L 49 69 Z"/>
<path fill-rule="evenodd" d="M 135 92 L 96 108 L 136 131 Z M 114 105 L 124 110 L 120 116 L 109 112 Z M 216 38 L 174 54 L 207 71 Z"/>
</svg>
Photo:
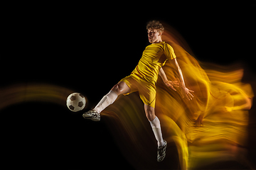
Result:
<svg viewBox="0 0 256 170">
<path fill-rule="evenodd" d="M 136 67 L 153 19 L 178 30 L 198 60 L 242 64 L 244 81 L 255 85 L 255 8 L 255 1 L 9 4 L 2 16 L 1 88 L 55 84 L 84 94 L 92 108 Z M 3 162 L 10 167 L 133 168 L 105 120 L 86 121 L 43 102 L 9 106 L 1 115 Z"/>
</svg>

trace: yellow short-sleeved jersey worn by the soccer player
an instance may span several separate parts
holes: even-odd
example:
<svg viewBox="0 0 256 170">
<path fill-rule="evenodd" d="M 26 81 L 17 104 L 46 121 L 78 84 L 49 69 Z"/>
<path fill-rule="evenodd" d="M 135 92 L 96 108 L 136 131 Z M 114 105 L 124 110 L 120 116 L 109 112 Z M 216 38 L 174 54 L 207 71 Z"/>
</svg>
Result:
<svg viewBox="0 0 256 170">
<path fill-rule="evenodd" d="M 142 58 L 139 60 L 132 74 L 135 74 L 140 79 L 154 82 L 155 84 L 159 69 L 164 66 L 166 60 L 172 60 L 174 58 L 176 58 L 174 49 L 166 42 L 148 45 L 142 53 Z"/>
</svg>

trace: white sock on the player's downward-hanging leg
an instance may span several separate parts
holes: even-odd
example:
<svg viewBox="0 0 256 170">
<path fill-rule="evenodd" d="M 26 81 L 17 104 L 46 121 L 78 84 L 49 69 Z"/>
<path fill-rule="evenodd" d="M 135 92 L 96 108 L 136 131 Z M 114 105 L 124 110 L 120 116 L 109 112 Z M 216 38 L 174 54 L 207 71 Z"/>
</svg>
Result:
<svg viewBox="0 0 256 170">
<path fill-rule="evenodd" d="M 159 121 L 159 118 L 154 118 L 154 120 L 152 121 L 149 121 L 151 127 L 152 127 L 152 130 L 154 132 L 154 135 L 156 137 L 156 140 L 157 140 L 157 145 L 160 147 L 160 146 L 163 146 L 164 145 L 164 140 L 163 140 L 163 137 L 162 137 L 162 134 L 161 134 L 161 125 L 160 125 L 160 121 Z"/>
</svg>

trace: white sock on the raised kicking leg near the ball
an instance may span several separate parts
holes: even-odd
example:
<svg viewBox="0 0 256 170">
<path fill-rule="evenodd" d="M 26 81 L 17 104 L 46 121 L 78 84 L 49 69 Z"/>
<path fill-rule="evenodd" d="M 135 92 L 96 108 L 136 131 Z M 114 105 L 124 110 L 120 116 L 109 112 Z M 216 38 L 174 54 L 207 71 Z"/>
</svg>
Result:
<svg viewBox="0 0 256 170">
<path fill-rule="evenodd" d="M 97 104 L 97 106 L 95 106 L 94 109 L 92 109 L 93 111 L 97 111 L 97 113 L 100 113 L 101 111 L 103 111 L 105 108 L 107 108 L 107 106 L 110 106 L 112 103 L 114 103 L 114 101 L 117 99 L 117 94 L 114 93 L 114 91 L 110 91 L 108 94 L 106 94 L 105 96 L 103 96 L 103 98 L 101 99 L 101 101 Z"/>
</svg>

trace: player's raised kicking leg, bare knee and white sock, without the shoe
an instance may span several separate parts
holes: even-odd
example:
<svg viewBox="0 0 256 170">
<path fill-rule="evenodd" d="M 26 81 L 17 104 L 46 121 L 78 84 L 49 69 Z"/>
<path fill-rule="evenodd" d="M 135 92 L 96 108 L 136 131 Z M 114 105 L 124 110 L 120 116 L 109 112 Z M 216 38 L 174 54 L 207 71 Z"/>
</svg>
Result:
<svg viewBox="0 0 256 170">
<path fill-rule="evenodd" d="M 114 85 L 110 92 L 103 96 L 103 98 L 100 100 L 100 102 L 93 108 L 93 111 L 96 111 L 97 113 L 102 112 L 107 106 L 110 106 L 110 104 L 114 103 L 114 101 L 117 99 L 117 96 L 120 94 L 127 94 L 129 93 L 130 89 L 127 84 L 125 84 L 123 81 L 120 81 L 118 84 Z"/>
</svg>

